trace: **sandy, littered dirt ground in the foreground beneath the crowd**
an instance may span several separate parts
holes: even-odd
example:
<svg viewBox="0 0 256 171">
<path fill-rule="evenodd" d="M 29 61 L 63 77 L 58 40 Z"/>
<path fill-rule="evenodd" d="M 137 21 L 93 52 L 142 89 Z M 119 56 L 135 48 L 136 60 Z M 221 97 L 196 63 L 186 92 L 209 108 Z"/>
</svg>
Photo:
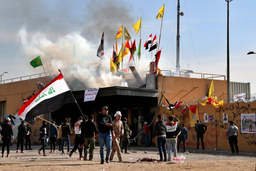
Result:
<svg viewBox="0 0 256 171">
<path fill-rule="evenodd" d="M 157 148 L 130 147 L 130 154 L 121 154 L 124 162 L 117 161 L 115 154 L 114 161 L 100 165 L 99 148 L 95 149 L 94 161 L 79 161 L 79 154 L 73 153 L 70 158 L 67 154 L 62 156 L 57 153 L 48 153 L 47 156 L 37 154 L 35 149 L 40 146 L 32 146 L 33 151 L 26 151 L 25 154 L 15 153 L 15 147 L 12 147 L 11 158 L 0 159 L 0 170 L 244 170 L 255 171 L 256 157 L 254 153 L 242 153 L 237 156 L 230 155 L 225 151 L 197 151 L 188 149 L 189 154 L 178 153 L 177 157 L 185 156 L 184 163 L 173 162 L 137 162 L 139 158 L 159 159 Z M 48 148 L 48 147 L 47 147 Z M 132 153 L 130 150 L 133 149 Z M 144 150 L 147 150 L 145 154 Z M 65 149 L 65 151 L 67 151 Z M 6 152 L 6 151 L 5 151 Z M 173 157 L 173 153 L 171 154 Z"/>
</svg>

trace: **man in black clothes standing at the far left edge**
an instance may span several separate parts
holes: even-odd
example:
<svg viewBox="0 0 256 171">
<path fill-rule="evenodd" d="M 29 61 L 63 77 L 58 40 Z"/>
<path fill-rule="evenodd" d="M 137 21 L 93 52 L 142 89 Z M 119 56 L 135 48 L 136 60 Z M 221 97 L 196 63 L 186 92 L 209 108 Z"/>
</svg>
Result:
<svg viewBox="0 0 256 171">
<path fill-rule="evenodd" d="M 3 140 L 2 157 L 4 157 L 3 154 L 4 154 L 5 145 L 7 147 L 7 156 L 6 157 L 11 157 L 9 155 L 10 154 L 10 144 L 11 144 L 11 140 L 13 140 L 14 137 L 13 137 L 12 126 L 9 124 L 10 121 L 11 121 L 10 118 L 6 118 L 5 123 L 2 124 L 2 131 L 1 131 L 1 136 L 2 136 L 2 140 Z"/>
</svg>

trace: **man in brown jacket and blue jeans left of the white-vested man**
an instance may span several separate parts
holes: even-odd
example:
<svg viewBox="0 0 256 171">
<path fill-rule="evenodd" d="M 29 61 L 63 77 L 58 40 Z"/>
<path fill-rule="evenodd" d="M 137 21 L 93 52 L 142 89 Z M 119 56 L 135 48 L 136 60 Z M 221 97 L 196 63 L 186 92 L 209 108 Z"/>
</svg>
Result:
<svg viewBox="0 0 256 171">
<path fill-rule="evenodd" d="M 61 151 L 62 151 L 62 153 L 61 153 L 61 155 L 65 155 L 65 153 L 64 153 L 65 141 L 68 144 L 68 152 L 67 152 L 67 154 L 69 154 L 69 150 L 70 150 L 69 134 L 72 134 L 72 132 L 71 132 L 71 128 L 70 128 L 70 125 L 68 123 L 68 119 L 67 118 L 65 118 L 64 119 L 64 123 L 61 124 L 61 131 L 62 131 L 62 133 L 61 133 L 61 142 L 62 142 L 62 144 L 61 144 Z"/>
</svg>

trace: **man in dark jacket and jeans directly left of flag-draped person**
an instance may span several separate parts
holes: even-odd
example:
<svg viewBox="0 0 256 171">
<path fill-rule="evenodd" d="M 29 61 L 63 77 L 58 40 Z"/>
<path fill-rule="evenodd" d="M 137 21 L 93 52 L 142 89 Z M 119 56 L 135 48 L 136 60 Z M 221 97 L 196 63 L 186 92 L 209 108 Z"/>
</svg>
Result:
<svg viewBox="0 0 256 171">
<path fill-rule="evenodd" d="M 167 156 L 166 156 L 166 125 L 165 123 L 161 120 L 162 115 L 157 115 L 157 122 L 155 124 L 155 129 L 154 129 L 154 134 L 153 134 L 153 139 L 152 142 L 155 142 L 155 136 L 157 136 L 157 145 L 158 145 L 158 150 L 159 150 L 159 155 L 160 155 L 160 160 L 157 161 L 167 161 Z M 162 154 L 163 151 L 163 154 Z M 163 159 L 163 156 L 165 159 Z"/>
</svg>

